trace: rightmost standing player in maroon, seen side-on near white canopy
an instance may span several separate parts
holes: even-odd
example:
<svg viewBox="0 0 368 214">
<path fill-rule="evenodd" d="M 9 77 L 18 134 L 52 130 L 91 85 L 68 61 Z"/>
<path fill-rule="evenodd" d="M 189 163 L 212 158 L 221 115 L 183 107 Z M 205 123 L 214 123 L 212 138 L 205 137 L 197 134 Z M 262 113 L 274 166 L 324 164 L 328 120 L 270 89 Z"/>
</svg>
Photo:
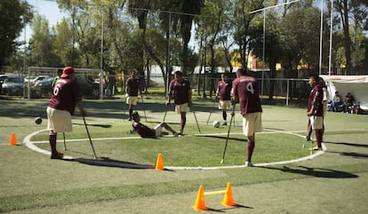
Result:
<svg viewBox="0 0 368 214">
<path fill-rule="evenodd" d="M 309 85 L 312 90 L 309 92 L 307 115 L 309 117 L 312 130 L 316 134 L 316 147 L 314 150 L 322 150 L 323 129 L 324 129 L 324 91 L 319 83 L 318 75 L 309 76 Z"/>
</svg>

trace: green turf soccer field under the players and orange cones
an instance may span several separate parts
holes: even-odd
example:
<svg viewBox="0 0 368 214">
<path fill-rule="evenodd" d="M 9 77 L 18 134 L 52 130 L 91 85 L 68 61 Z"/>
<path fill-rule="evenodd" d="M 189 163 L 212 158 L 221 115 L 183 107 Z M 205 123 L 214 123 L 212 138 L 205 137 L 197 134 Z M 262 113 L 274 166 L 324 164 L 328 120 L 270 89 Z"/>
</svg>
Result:
<svg viewBox="0 0 368 214">
<path fill-rule="evenodd" d="M 244 162 L 246 144 L 236 107 L 225 163 L 220 164 L 228 127 L 212 127 L 221 114 L 212 101 L 196 100 L 188 114 L 186 135 L 140 139 L 131 134 L 123 100 L 87 100 L 85 117 L 93 146 L 102 164 L 95 164 L 84 122 L 73 117 L 74 131 L 66 134 L 66 155 L 72 161 L 51 160 L 22 144 L 30 140 L 49 150 L 44 109 L 47 100 L 0 100 L 0 212 L 11 213 L 196 213 L 198 186 L 224 190 L 231 182 L 239 206 L 220 204 L 223 194 L 206 195 L 206 212 L 226 213 L 366 213 L 368 211 L 368 116 L 328 113 L 326 151 L 299 162 L 272 162 L 309 155 L 302 147 L 306 110 L 264 105 L 264 131 L 257 135 L 254 168 L 231 168 Z M 172 106 L 173 108 L 173 106 Z M 154 125 L 164 117 L 164 101 L 146 99 L 138 105 L 142 123 Z M 210 123 L 207 124 L 210 111 Z M 144 116 L 146 111 L 146 117 Z M 36 115 L 44 122 L 36 125 Z M 229 115 L 228 115 L 229 116 Z M 174 129 L 180 116 L 168 109 L 165 121 Z M 12 132 L 18 146 L 9 146 Z M 58 147 L 63 151 L 62 135 Z M 217 170 L 154 170 L 157 154 L 165 166 L 228 167 Z M 103 164 L 104 161 L 118 164 Z M 262 165 L 262 163 L 270 164 Z M 127 166 L 136 167 L 127 167 Z M 142 167 L 143 166 L 143 167 Z M 145 166 L 145 167 L 144 167 Z M 170 168 L 169 168 L 170 169 Z"/>
</svg>

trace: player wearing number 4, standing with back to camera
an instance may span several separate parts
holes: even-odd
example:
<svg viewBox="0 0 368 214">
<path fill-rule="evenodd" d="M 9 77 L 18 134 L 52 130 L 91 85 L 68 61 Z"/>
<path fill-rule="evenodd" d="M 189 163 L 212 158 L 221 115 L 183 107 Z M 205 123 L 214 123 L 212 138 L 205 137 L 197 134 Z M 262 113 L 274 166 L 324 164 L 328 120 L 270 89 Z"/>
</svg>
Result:
<svg viewBox="0 0 368 214">
<path fill-rule="evenodd" d="M 254 77 L 246 75 L 244 68 L 239 68 L 236 71 L 231 94 L 234 101 L 239 101 L 240 112 L 243 115 L 243 132 L 248 138 L 245 165 L 253 166 L 252 154 L 255 147 L 255 133 L 262 131 L 259 83 Z"/>
</svg>

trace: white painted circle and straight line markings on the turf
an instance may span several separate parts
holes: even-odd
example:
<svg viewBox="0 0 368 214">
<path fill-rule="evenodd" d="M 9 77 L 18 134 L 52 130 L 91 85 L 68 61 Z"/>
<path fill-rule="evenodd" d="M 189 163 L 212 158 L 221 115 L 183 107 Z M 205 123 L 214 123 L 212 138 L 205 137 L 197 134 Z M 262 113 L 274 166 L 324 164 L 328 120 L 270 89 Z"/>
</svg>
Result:
<svg viewBox="0 0 368 214">
<path fill-rule="evenodd" d="M 31 150 L 34 150 L 38 153 L 41 153 L 41 154 L 44 154 L 44 155 L 51 155 L 51 152 L 48 151 L 48 150 L 44 150 L 42 148 L 39 148 L 39 147 L 36 147 L 35 144 L 37 143 L 46 143 L 48 141 L 37 141 L 37 142 L 32 142 L 30 139 L 35 136 L 36 134 L 42 132 L 42 131 L 47 131 L 47 130 L 41 130 L 41 131 L 36 131 L 36 132 L 33 132 L 33 133 L 30 133 L 28 134 L 28 136 L 26 136 L 24 139 L 23 139 L 23 144 L 28 147 L 29 149 Z M 259 134 L 263 133 L 263 134 L 266 134 L 266 133 L 286 133 L 286 134 L 292 134 L 292 135 L 295 135 L 295 136 L 298 136 L 298 137 L 301 137 L 301 138 L 305 138 L 304 136 L 300 135 L 300 134 L 297 134 L 297 133 L 294 133 L 294 131 L 275 131 L 275 130 L 270 130 L 270 131 L 273 131 L 273 132 L 260 132 Z M 295 131 L 295 132 L 300 132 L 300 131 Z M 193 136 L 205 136 L 205 135 L 227 135 L 228 133 L 216 133 L 216 134 L 195 134 Z M 232 133 L 232 135 L 234 134 L 242 134 L 242 133 Z M 188 136 L 188 135 L 187 135 Z M 104 139 L 92 139 L 92 140 L 107 140 L 107 139 L 141 139 L 140 137 L 125 137 L 125 138 L 104 138 Z M 67 140 L 66 142 L 76 142 L 76 141 L 84 141 L 84 140 L 89 140 L 89 139 L 72 139 L 72 140 Z M 59 140 L 60 141 L 60 140 Z M 322 144 L 322 151 L 317 151 L 316 153 L 314 153 L 313 155 L 308 155 L 308 156 L 305 156 L 305 157 L 301 157 L 301 158 L 298 158 L 298 159 L 293 159 L 293 160 L 288 160 L 288 161 L 282 161 L 282 162 L 261 162 L 261 163 L 255 163 L 253 164 L 254 166 L 269 166 L 269 165 L 280 165 L 280 164 L 287 164 L 287 163 L 293 163 L 293 162 L 304 162 L 304 161 L 308 161 L 310 159 L 313 159 L 315 158 L 316 156 L 319 156 L 319 155 L 323 155 L 324 154 L 324 151 L 327 150 L 327 147 L 324 145 L 324 143 Z M 63 157 L 64 159 L 68 159 L 68 160 L 71 160 L 71 159 L 75 159 L 75 157 L 72 157 L 72 156 L 67 156 L 65 155 Z M 94 162 L 99 162 L 98 160 L 95 160 Z M 103 164 L 104 162 L 100 162 L 101 164 Z M 118 166 L 119 163 L 116 163 L 116 166 Z M 122 167 L 124 167 L 124 164 L 122 163 L 121 164 Z M 246 166 L 245 165 L 232 165 L 232 166 L 215 166 L 215 167 L 201 167 L 201 166 L 198 166 L 198 167 L 181 167 L 181 166 L 164 166 L 164 169 L 167 169 L 167 170 L 224 170 L 224 169 L 237 169 L 237 168 L 245 168 Z"/>
</svg>

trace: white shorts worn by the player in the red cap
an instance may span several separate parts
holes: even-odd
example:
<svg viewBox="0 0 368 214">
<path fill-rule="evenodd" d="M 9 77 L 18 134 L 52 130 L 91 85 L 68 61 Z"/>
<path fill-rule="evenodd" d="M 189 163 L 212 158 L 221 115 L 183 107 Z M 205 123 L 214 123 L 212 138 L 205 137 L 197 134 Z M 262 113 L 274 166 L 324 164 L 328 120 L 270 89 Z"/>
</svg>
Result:
<svg viewBox="0 0 368 214">
<path fill-rule="evenodd" d="M 47 107 L 47 129 L 53 132 L 72 131 L 71 115 L 68 111 Z"/>
</svg>

